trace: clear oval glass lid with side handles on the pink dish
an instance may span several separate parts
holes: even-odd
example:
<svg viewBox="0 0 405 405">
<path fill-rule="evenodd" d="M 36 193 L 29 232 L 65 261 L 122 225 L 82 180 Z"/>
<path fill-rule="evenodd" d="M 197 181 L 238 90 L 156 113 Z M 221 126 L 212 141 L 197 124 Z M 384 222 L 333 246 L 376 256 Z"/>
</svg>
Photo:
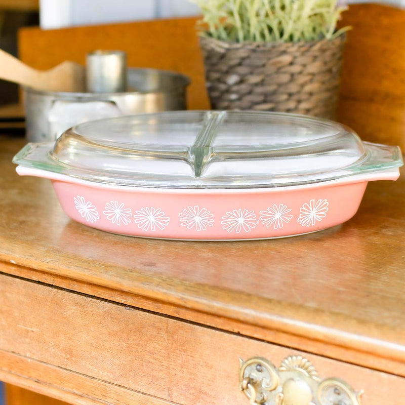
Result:
<svg viewBox="0 0 405 405">
<path fill-rule="evenodd" d="M 77 125 L 15 163 L 126 186 L 251 188 L 314 183 L 402 165 L 397 147 L 303 115 L 174 111 Z"/>
</svg>

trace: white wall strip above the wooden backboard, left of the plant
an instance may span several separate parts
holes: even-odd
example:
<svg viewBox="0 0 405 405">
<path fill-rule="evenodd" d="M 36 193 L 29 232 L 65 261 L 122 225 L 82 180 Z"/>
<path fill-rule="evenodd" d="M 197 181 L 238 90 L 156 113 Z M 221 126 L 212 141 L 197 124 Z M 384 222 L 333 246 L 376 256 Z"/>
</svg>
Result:
<svg viewBox="0 0 405 405">
<path fill-rule="evenodd" d="M 188 0 L 39 0 L 41 28 L 197 15 Z"/>
</svg>

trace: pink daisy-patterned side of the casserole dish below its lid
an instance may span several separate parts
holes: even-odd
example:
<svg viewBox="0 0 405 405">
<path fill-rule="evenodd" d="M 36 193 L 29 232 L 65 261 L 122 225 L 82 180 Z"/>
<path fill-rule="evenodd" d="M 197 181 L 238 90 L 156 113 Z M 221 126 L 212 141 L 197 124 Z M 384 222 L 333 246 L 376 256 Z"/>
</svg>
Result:
<svg viewBox="0 0 405 405">
<path fill-rule="evenodd" d="M 350 219 L 367 181 L 239 190 L 102 188 L 52 181 L 73 220 L 119 234 L 188 240 L 272 238 Z"/>
</svg>

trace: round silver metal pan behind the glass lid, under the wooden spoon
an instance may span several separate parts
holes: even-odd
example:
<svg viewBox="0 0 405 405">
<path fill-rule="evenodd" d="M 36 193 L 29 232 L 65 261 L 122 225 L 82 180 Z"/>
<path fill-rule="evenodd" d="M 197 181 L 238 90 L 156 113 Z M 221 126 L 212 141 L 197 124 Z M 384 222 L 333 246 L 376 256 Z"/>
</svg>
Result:
<svg viewBox="0 0 405 405">
<path fill-rule="evenodd" d="M 128 69 L 125 93 L 66 93 L 24 88 L 27 140 L 55 140 L 73 125 L 93 119 L 186 109 L 183 74 L 155 69 Z"/>
</svg>

